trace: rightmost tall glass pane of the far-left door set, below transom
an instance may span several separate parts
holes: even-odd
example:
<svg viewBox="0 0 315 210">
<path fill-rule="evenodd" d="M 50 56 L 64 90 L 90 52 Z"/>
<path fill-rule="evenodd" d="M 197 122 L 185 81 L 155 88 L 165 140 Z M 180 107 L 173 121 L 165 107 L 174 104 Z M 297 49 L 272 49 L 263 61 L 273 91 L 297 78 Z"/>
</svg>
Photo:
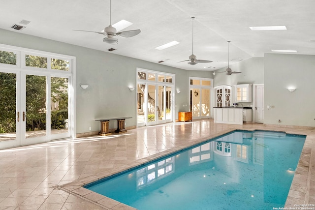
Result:
<svg viewBox="0 0 315 210">
<path fill-rule="evenodd" d="M 51 77 L 51 123 L 52 135 L 68 133 L 68 78 Z"/>
</svg>

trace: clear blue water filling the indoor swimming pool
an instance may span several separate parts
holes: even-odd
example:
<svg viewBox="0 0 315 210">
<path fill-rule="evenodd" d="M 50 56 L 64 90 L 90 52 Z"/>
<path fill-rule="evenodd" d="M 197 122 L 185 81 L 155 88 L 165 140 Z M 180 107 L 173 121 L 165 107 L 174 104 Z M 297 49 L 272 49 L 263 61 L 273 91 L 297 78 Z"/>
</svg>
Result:
<svg viewBox="0 0 315 210">
<path fill-rule="evenodd" d="M 85 186 L 138 210 L 284 207 L 306 136 L 234 131 Z"/>
</svg>

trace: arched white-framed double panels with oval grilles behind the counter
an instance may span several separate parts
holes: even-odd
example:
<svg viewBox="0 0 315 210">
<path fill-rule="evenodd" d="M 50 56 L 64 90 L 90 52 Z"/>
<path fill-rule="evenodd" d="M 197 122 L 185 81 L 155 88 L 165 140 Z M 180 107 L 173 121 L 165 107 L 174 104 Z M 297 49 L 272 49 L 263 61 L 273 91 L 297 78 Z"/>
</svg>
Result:
<svg viewBox="0 0 315 210">
<path fill-rule="evenodd" d="M 215 107 L 225 107 L 225 106 L 232 106 L 231 103 L 231 86 L 217 86 L 214 88 L 215 92 Z"/>
</svg>

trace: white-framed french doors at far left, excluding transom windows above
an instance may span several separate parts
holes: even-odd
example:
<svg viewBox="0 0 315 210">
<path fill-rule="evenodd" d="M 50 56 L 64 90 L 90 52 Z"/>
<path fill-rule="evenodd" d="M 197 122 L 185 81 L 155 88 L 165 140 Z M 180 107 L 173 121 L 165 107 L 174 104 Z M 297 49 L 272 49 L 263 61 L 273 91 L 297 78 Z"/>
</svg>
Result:
<svg viewBox="0 0 315 210">
<path fill-rule="evenodd" d="M 0 148 L 71 136 L 69 78 L 1 69 Z"/>
</svg>

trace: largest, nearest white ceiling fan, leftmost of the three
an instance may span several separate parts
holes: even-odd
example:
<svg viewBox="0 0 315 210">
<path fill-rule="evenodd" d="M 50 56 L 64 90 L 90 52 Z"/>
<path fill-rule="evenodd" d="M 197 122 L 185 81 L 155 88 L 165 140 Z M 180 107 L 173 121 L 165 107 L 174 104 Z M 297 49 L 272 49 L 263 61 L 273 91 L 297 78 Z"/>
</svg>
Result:
<svg viewBox="0 0 315 210">
<path fill-rule="evenodd" d="M 118 42 L 118 39 L 115 38 L 115 36 L 128 38 L 128 37 L 135 36 L 141 32 L 141 30 L 139 29 L 117 32 L 117 30 L 111 24 L 111 0 L 109 0 L 109 26 L 104 29 L 104 32 L 90 31 L 90 30 L 77 30 L 77 31 L 94 32 L 94 33 L 103 34 L 106 36 L 105 38 L 103 38 L 103 42 L 108 43 L 108 44 L 116 44 Z"/>
</svg>

